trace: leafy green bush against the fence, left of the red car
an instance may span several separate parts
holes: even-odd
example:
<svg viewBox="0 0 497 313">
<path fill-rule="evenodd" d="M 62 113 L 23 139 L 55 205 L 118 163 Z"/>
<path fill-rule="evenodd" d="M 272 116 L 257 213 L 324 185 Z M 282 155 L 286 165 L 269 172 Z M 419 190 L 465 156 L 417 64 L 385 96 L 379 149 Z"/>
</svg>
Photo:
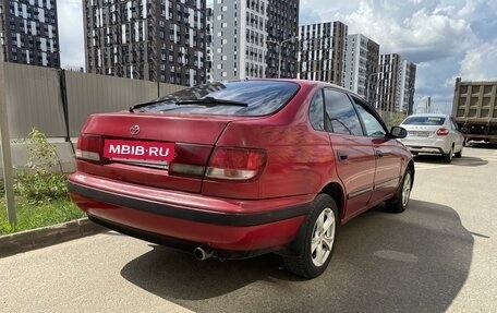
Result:
<svg viewBox="0 0 497 313">
<path fill-rule="evenodd" d="M 31 203 L 43 203 L 68 195 L 65 174 L 57 155 L 44 133 L 33 129 L 29 133 L 29 161 L 27 170 L 17 173 L 15 191 Z"/>
</svg>

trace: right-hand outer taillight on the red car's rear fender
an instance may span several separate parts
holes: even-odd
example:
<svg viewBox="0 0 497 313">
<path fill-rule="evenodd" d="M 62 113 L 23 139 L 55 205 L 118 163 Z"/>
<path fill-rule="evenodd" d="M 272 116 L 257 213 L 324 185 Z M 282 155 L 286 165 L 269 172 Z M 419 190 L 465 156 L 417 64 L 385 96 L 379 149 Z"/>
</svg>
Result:
<svg viewBox="0 0 497 313">
<path fill-rule="evenodd" d="M 217 147 L 210 156 L 206 178 L 248 180 L 256 177 L 266 165 L 262 149 Z"/>
</svg>

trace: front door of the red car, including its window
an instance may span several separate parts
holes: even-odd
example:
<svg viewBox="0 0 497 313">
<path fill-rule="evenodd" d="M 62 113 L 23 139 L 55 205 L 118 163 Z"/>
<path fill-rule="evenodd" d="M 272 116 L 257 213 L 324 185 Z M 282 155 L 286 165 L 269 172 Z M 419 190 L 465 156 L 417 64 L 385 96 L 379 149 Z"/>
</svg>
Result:
<svg viewBox="0 0 497 313">
<path fill-rule="evenodd" d="M 355 109 L 364 125 L 365 135 L 375 152 L 376 172 L 369 206 L 391 197 L 396 192 L 402 169 L 399 143 L 387 137 L 387 129 L 377 113 L 364 101 L 353 97 Z"/>
</svg>

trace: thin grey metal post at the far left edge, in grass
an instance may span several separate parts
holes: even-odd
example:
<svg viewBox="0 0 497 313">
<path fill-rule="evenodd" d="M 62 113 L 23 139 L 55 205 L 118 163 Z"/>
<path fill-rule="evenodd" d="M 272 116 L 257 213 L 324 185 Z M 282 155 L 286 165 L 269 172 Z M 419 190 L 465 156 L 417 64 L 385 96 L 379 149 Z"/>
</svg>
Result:
<svg viewBox="0 0 497 313">
<path fill-rule="evenodd" d="M 3 181 L 5 185 L 7 215 L 11 225 L 17 224 L 14 200 L 14 178 L 12 155 L 10 149 L 9 124 L 7 116 L 5 71 L 3 60 L 0 60 L 0 155 L 3 165 Z"/>
</svg>

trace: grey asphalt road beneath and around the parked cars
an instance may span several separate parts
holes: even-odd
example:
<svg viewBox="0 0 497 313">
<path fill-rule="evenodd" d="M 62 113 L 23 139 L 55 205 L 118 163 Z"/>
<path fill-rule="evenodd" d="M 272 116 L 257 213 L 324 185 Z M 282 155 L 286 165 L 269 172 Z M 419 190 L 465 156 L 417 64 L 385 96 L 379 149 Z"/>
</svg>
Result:
<svg viewBox="0 0 497 313">
<path fill-rule="evenodd" d="M 343 226 L 316 279 L 106 232 L 0 258 L 0 311 L 497 312 L 496 208 L 497 149 L 420 157 L 407 212 Z"/>
</svg>

